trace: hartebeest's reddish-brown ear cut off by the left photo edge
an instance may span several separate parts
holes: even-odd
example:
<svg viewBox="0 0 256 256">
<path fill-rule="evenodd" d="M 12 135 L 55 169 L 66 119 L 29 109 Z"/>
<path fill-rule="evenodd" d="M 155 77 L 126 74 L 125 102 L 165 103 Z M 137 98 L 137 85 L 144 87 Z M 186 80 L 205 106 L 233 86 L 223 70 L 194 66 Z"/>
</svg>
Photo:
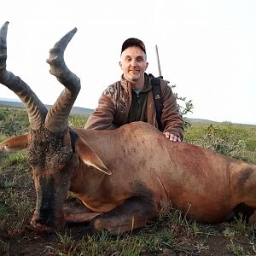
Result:
<svg viewBox="0 0 256 256">
<path fill-rule="evenodd" d="M 0 143 L 0 150 L 18 151 L 27 148 L 30 140 L 30 133 L 22 134 L 20 136 L 12 137 L 3 143 Z"/>
</svg>

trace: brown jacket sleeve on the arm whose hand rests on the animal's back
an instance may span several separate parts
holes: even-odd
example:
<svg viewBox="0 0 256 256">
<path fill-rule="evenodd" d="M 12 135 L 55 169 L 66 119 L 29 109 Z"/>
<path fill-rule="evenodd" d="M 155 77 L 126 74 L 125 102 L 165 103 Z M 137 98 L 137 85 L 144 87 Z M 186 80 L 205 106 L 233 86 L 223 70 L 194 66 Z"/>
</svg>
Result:
<svg viewBox="0 0 256 256">
<path fill-rule="evenodd" d="M 180 137 L 183 140 L 183 117 L 179 113 L 177 108 L 176 96 L 172 92 L 172 88 L 167 84 L 161 84 L 163 86 L 163 112 L 161 116 L 161 122 L 164 125 L 164 131 L 169 131 L 173 135 Z"/>
</svg>

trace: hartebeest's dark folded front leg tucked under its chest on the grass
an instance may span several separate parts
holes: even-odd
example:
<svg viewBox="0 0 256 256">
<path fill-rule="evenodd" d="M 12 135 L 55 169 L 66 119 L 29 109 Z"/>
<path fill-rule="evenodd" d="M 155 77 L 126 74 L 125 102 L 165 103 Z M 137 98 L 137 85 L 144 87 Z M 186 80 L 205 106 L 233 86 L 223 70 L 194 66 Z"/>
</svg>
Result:
<svg viewBox="0 0 256 256">
<path fill-rule="evenodd" d="M 91 232 L 108 230 L 115 235 L 143 228 L 149 218 L 157 216 L 156 206 L 143 198 L 133 197 L 119 207 L 93 218 L 90 221 Z"/>
</svg>

